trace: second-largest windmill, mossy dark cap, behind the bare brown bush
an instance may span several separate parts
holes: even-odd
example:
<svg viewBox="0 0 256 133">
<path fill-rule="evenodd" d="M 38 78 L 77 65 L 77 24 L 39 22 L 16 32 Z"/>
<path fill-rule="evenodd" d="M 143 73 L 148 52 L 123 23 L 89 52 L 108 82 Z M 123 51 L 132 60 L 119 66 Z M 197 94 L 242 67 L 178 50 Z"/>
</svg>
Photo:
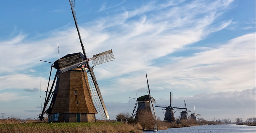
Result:
<svg viewBox="0 0 256 133">
<path fill-rule="evenodd" d="M 139 118 L 139 116 L 137 114 L 139 114 L 141 111 L 150 111 L 150 112 L 152 112 L 152 110 L 153 110 L 152 118 L 156 119 L 155 109 L 154 109 L 154 106 L 153 106 L 153 103 L 155 103 L 155 98 L 151 97 L 151 95 L 150 95 L 150 89 L 149 89 L 147 74 L 146 74 L 146 78 L 147 78 L 148 94 L 144 95 L 144 96 L 141 96 L 141 97 L 136 99 L 136 103 L 135 103 L 131 118 L 134 118 L 134 117 Z M 134 112 L 136 107 L 137 107 L 137 111 Z"/>
</svg>

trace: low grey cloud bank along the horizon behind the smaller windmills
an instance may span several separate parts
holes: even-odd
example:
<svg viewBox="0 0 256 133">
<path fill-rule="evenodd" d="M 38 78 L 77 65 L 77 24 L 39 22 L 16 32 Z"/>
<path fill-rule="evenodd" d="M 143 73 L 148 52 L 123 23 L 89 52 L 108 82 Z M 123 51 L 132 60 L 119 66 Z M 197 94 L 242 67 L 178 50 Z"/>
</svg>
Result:
<svg viewBox="0 0 256 133">
<path fill-rule="evenodd" d="M 231 118 L 234 122 L 236 118 L 252 118 L 255 117 L 256 108 L 256 89 L 244 89 L 242 91 L 219 91 L 216 93 L 200 93 L 192 97 L 173 98 L 173 106 L 184 108 L 184 100 L 186 101 L 187 110 L 191 113 L 195 111 L 202 114 L 202 118 L 211 121 L 213 117 L 218 119 Z M 167 94 L 169 96 L 169 94 Z M 135 99 L 129 99 L 128 102 L 106 102 L 107 110 L 110 118 L 115 118 L 118 113 L 130 113 L 134 109 Z M 160 105 L 169 105 L 170 98 L 156 99 L 156 103 Z M 137 108 L 135 109 L 135 111 Z M 222 113 L 222 110 L 229 112 Z M 155 107 L 157 117 L 164 119 L 162 108 Z M 175 113 L 175 117 L 179 117 L 179 111 Z M 97 114 L 98 118 L 101 116 Z"/>
</svg>

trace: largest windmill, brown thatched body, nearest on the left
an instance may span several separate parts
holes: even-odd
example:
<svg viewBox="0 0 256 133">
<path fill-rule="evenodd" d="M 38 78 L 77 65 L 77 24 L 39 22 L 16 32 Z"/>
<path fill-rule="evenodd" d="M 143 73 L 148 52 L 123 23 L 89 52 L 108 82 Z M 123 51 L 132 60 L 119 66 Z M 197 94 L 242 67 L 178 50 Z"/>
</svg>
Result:
<svg viewBox="0 0 256 133">
<path fill-rule="evenodd" d="M 98 111 L 106 120 L 109 116 L 93 69 L 98 64 L 115 60 L 115 57 L 111 49 L 88 58 L 77 24 L 74 0 L 69 2 L 83 54 L 81 52 L 68 54 L 52 65 L 40 120 L 44 119 L 43 115 L 46 113 L 48 122 L 95 122 L 95 114 Z M 92 67 L 89 65 L 90 60 Z M 57 71 L 49 89 L 52 68 Z M 54 85 L 55 89 L 52 91 Z M 49 108 L 46 110 L 49 102 Z"/>
</svg>

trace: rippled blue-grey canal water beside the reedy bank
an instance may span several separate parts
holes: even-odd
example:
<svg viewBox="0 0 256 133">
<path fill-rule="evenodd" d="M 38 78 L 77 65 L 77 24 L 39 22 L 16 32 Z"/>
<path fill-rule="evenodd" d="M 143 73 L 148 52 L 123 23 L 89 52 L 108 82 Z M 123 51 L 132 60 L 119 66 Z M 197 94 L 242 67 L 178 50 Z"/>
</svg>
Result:
<svg viewBox="0 0 256 133">
<path fill-rule="evenodd" d="M 205 125 L 182 128 L 168 128 L 157 132 L 146 131 L 145 133 L 255 133 L 255 126 L 245 125 Z"/>
</svg>

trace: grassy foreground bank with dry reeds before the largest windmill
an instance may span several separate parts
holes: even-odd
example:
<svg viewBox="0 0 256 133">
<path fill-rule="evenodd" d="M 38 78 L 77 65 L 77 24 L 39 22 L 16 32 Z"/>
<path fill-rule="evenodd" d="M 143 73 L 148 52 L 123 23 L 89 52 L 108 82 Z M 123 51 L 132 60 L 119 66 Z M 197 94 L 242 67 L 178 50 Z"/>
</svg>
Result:
<svg viewBox="0 0 256 133">
<path fill-rule="evenodd" d="M 0 124 L 1 133 L 141 133 L 140 124 L 127 123 L 27 123 Z"/>
</svg>

